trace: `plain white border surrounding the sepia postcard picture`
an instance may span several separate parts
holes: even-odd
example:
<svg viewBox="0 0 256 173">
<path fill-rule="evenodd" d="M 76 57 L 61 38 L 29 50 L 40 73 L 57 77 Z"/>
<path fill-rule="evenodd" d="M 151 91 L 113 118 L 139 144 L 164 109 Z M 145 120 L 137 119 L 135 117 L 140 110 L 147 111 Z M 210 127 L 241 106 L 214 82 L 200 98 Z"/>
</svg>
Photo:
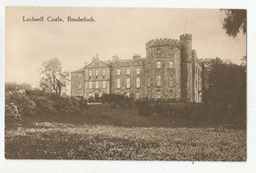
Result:
<svg viewBox="0 0 256 173">
<path fill-rule="evenodd" d="M 0 2 L 0 172 L 189 172 L 236 173 L 256 172 L 256 112 L 254 68 L 256 62 L 255 20 L 253 0 L 12 0 Z M 192 161 L 86 161 L 86 160 L 6 160 L 4 158 L 4 8 L 5 6 L 87 6 L 87 7 L 154 7 L 154 8 L 236 8 L 247 9 L 247 161 L 195 162 Z M 254 24 L 253 24 L 254 21 Z M 254 56 L 253 56 L 254 55 Z"/>
</svg>

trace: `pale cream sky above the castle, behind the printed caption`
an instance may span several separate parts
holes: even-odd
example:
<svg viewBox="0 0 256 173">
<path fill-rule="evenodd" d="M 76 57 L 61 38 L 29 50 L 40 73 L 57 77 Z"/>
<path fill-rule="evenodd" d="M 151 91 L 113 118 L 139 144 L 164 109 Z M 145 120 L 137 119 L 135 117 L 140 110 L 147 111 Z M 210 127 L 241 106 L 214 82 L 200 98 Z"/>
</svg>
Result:
<svg viewBox="0 0 256 173">
<path fill-rule="evenodd" d="M 69 23 L 67 17 L 93 17 L 96 22 Z M 44 22 L 23 18 L 44 17 Z M 46 18 L 65 22 L 47 22 Z M 198 58 L 246 56 L 246 35 L 232 38 L 222 28 L 219 9 L 8 7 L 5 15 L 5 81 L 38 87 L 42 62 L 59 58 L 63 70 L 76 71 L 98 54 L 100 60 L 146 56 L 146 42 L 193 35 Z"/>
</svg>

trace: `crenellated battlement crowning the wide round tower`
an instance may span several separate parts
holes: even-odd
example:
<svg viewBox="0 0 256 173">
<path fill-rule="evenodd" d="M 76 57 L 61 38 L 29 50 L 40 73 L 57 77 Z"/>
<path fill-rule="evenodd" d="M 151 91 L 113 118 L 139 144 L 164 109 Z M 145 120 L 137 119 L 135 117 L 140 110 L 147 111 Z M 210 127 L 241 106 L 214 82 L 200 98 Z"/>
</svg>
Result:
<svg viewBox="0 0 256 173">
<path fill-rule="evenodd" d="M 170 38 L 152 39 L 151 41 L 146 43 L 146 49 L 150 47 L 162 46 L 162 45 L 176 45 L 180 47 L 180 42 L 177 39 L 170 39 Z"/>
</svg>

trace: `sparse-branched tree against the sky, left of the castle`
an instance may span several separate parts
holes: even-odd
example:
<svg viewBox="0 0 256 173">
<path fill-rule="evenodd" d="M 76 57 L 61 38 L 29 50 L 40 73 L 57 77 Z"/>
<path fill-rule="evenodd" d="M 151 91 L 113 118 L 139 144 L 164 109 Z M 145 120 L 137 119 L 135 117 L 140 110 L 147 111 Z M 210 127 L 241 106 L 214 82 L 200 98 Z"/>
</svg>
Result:
<svg viewBox="0 0 256 173">
<path fill-rule="evenodd" d="M 39 69 L 42 78 L 39 86 L 47 92 L 56 92 L 61 95 L 69 82 L 69 72 L 62 72 L 61 63 L 58 58 L 52 58 L 41 64 Z"/>
</svg>

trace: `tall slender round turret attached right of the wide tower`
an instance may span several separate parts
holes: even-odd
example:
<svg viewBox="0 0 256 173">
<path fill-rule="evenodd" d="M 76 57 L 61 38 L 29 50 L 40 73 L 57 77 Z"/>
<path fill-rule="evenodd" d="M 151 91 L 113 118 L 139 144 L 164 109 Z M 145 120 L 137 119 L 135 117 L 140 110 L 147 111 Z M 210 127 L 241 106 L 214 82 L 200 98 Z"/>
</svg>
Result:
<svg viewBox="0 0 256 173">
<path fill-rule="evenodd" d="M 192 101 L 192 34 L 180 35 L 181 43 L 181 97 Z"/>
</svg>

